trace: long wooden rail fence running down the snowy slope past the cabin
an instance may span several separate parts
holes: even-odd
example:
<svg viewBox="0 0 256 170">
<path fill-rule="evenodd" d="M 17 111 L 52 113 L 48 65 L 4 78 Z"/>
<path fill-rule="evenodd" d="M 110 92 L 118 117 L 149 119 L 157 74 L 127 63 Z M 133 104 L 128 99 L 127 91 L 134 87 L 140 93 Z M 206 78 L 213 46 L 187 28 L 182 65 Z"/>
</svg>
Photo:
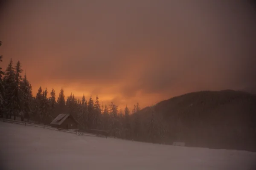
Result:
<svg viewBox="0 0 256 170">
<path fill-rule="evenodd" d="M 67 133 L 73 133 L 76 135 L 85 135 L 85 136 L 98 136 L 98 137 L 106 137 L 108 138 L 108 133 L 105 130 L 95 130 L 95 129 L 89 129 L 91 131 L 95 131 L 95 132 L 103 132 L 104 135 L 102 134 L 98 134 L 98 133 L 89 133 L 83 130 L 67 130 L 67 129 L 61 129 L 61 128 L 57 128 L 57 127 L 52 127 L 49 125 L 41 125 L 41 124 L 36 124 L 36 123 L 30 123 L 30 122 L 22 122 L 22 121 L 17 121 L 17 120 L 12 120 L 12 119 L 3 119 L 0 118 L 0 122 L 8 122 L 8 123 L 14 123 L 14 124 L 19 124 L 19 125 L 24 125 L 24 126 L 33 126 L 33 127 L 41 127 L 44 129 L 49 129 L 49 130 L 57 130 L 57 131 L 61 131 L 61 132 L 67 132 Z"/>
</svg>

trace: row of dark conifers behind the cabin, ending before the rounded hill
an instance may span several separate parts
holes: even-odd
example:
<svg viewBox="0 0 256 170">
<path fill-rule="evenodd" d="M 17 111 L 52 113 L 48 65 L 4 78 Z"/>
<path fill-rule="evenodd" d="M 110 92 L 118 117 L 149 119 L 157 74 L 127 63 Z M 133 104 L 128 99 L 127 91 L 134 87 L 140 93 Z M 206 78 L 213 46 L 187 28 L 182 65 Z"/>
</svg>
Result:
<svg viewBox="0 0 256 170">
<path fill-rule="evenodd" d="M 131 114 L 127 106 L 122 111 L 113 102 L 111 105 L 101 106 L 98 96 L 95 100 L 92 96 L 88 100 L 83 96 L 80 100 L 71 93 L 65 99 L 62 88 L 57 97 L 54 88 L 48 91 L 41 87 L 36 96 L 32 96 L 32 85 L 26 73 L 24 77 L 21 76 L 22 72 L 20 61 L 13 67 L 12 59 L 6 70 L 0 72 L 1 118 L 16 120 L 19 117 L 21 121 L 50 124 L 58 114 L 69 113 L 78 120 L 81 130 L 106 130 L 110 136 L 147 142 L 155 142 L 162 135 L 162 124 L 153 107 L 151 118 L 143 125 L 143 118 L 138 114 L 139 103 L 134 105 Z"/>
</svg>

